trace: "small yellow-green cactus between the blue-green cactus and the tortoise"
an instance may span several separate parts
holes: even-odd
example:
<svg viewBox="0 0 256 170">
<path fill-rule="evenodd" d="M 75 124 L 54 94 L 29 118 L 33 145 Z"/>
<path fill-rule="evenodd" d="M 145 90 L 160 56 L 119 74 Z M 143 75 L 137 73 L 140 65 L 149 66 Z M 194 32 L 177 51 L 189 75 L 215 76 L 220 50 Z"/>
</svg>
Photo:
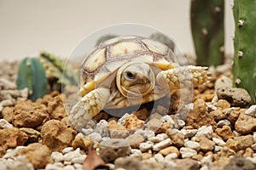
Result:
<svg viewBox="0 0 256 170">
<path fill-rule="evenodd" d="M 50 86 L 53 86 L 55 83 L 59 85 L 76 85 L 78 83 L 77 73 L 72 68 L 72 65 L 65 65 L 64 60 L 61 60 L 54 54 L 42 52 L 40 54 L 40 62 L 44 66 Z M 62 74 L 65 75 L 62 77 Z"/>
</svg>

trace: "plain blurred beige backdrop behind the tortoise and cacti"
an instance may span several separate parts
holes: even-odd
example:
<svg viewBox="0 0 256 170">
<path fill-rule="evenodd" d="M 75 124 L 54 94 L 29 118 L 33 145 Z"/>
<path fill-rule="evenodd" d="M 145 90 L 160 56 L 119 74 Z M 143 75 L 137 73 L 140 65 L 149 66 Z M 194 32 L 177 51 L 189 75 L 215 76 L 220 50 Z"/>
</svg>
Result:
<svg viewBox="0 0 256 170">
<path fill-rule="evenodd" d="M 232 0 L 226 0 L 226 51 L 234 32 Z M 194 54 L 189 0 L 0 0 L 0 59 L 35 56 L 41 50 L 67 57 L 92 32 L 119 23 L 138 23 L 173 37 Z"/>
</svg>

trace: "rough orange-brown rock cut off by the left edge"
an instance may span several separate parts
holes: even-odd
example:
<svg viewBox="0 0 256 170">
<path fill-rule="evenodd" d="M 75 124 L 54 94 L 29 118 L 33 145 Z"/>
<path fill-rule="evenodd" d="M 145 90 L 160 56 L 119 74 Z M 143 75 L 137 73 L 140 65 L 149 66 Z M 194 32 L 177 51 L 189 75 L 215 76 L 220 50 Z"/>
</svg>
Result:
<svg viewBox="0 0 256 170">
<path fill-rule="evenodd" d="M 0 148 L 7 150 L 15 148 L 18 145 L 23 145 L 28 139 L 26 133 L 20 131 L 19 128 L 12 127 L 7 129 L 0 129 Z M 1 157 L 1 154 L 0 154 Z"/>
</svg>

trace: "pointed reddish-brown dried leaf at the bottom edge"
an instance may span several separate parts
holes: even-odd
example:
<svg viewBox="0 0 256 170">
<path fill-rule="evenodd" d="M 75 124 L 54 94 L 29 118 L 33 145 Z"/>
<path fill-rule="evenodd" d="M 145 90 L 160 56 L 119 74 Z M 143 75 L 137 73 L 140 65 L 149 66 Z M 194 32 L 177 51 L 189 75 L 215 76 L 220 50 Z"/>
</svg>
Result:
<svg viewBox="0 0 256 170">
<path fill-rule="evenodd" d="M 109 169 L 108 166 L 105 165 L 105 162 L 102 160 L 101 156 L 98 156 L 96 154 L 96 150 L 93 148 L 93 144 L 90 145 L 90 149 L 88 150 L 88 155 L 84 161 L 83 169 L 84 170 Z"/>
</svg>

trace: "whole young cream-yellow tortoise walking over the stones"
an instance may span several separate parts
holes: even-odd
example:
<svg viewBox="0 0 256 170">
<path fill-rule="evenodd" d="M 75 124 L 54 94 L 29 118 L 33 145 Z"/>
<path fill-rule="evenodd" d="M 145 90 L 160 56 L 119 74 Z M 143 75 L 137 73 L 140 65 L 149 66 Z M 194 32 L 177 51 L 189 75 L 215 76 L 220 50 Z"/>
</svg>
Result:
<svg viewBox="0 0 256 170">
<path fill-rule="evenodd" d="M 68 119 L 81 129 L 104 109 L 142 105 L 177 88 L 208 81 L 207 67 L 178 64 L 172 49 L 146 37 L 114 37 L 85 57 L 79 70 L 81 99 Z"/>
</svg>

